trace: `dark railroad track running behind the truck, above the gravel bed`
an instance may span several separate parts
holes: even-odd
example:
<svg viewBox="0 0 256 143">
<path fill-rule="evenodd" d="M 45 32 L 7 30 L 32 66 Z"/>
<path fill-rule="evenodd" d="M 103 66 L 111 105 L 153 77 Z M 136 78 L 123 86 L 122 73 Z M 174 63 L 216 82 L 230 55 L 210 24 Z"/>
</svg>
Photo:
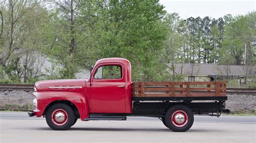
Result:
<svg viewBox="0 0 256 143">
<path fill-rule="evenodd" d="M 33 88 L 34 84 L 0 84 L 0 91 L 33 91 Z M 256 88 L 227 88 L 226 92 L 228 95 L 256 95 Z"/>
</svg>

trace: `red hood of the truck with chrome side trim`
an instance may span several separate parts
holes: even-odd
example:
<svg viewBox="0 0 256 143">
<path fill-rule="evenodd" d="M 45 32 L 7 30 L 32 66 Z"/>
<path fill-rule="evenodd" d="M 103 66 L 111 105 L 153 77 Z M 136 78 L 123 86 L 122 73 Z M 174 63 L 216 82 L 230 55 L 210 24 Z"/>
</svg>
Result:
<svg viewBox="0 0 256 143">
<path fill-rule="evenodd" d="M 49 80 L 39 81 L 35 84 L 36 91 L 70 91 L 85 92 L 85 80 Z"/>
</svg>

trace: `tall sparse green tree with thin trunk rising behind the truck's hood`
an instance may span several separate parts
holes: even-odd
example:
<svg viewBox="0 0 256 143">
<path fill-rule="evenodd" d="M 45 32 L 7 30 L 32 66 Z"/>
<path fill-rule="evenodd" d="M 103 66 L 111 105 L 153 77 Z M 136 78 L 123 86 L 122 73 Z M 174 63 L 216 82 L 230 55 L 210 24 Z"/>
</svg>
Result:
<svg viewBox="0 0 256 143">
<path fill-rule="evenodd" d="M 48 42 L 43 52 L 59 63 L 59 78 L 75 78 L 84 57 L 83 27 L 78 22 L 80 1 L 54 1 L 49 26 L 44 38 Z"/>
</svg>

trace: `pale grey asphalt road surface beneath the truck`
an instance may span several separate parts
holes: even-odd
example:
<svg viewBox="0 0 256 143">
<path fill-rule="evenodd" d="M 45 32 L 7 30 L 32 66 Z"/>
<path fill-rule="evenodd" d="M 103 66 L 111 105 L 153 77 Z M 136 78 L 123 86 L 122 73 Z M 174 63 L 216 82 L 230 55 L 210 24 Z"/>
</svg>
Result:
<svg viewBox="0 0 256 143">
<path fill-rule="evenodd" d="M 157 118 L 80 121 L 67 131 L 51 130 L 44 118 L 0 112 L 0 142 L 256 142 L 256 117 L 195 116 L 187 132 L 172 132 Z"/>
</svg>

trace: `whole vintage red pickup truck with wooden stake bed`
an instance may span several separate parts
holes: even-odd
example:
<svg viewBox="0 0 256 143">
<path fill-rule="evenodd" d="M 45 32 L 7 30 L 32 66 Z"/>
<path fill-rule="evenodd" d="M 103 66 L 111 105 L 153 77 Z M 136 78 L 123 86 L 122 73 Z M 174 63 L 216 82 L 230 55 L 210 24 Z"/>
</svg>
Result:
<svg viewBox="0 0 256 143">
<path fill-rule="evenodd" d="M 184 132 L 193 115 L 220 116 L 225 109 L 225 82 L 134 82 L 131 63 L 122 58 L 98 60 L 88 79 L 50 80 L 35 84 L 35 110 L 53 130 L 67 130 L 77 119 L 126 120 L 157 117 L 172 131 Z M 201 102 L 204 101 L 204 102 Z"/>
</svg>

